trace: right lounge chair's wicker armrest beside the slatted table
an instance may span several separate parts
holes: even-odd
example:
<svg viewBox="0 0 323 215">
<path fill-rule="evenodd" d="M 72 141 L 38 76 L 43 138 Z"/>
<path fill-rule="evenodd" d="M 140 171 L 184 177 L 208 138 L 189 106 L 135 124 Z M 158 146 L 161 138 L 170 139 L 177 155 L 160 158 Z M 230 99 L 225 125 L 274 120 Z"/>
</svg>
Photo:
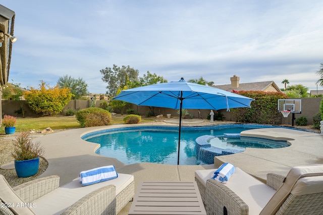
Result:
<svg viewBox="0 0 323 215">
<path fill-rule="evenodd" d="M 207 214 L 225 214 L 224 210 L 230 214 L 249 213 L 248 205 L 238 195 L 215 180 L 206 181 L 205 201 Z"/>
</svg>

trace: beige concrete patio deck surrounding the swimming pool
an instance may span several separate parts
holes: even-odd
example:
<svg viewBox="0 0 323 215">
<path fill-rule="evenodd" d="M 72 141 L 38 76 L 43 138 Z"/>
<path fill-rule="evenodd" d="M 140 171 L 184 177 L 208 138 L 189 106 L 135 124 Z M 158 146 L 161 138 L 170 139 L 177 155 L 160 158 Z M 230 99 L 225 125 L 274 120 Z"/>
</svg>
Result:
<svg viewBox="0 0 323 215">
<path fill-rule="evenodd" d="M 145 125 L 155 126 L 156 124 Z M 129 126 L 137 125 L 69 129 L 36 138 L 35 140 L 40 141 L 45 147 L 45 158 L 48 161 L 48 168 L 40 177 L 58 175 L 61 177 L 60 185 L 63 185 L 77 178 L 81 171 L 114 165 L 117 172 L 134 175 L 135 189 L 137 189 L 142 181 L 194 181 L 195 170 L 214 169 L 225 162 L 232 163 L 264 182 L 269 172 L 287 175 L 293 166 L 323 164 L 323 136 L 279 127 L 244 131 L 241 136 L 288 140 L 291 146 L 279 149 L 247 148 L 241 153 L 215 157 L 214 165 L 200 166 L 152 163 L 125 165 L 116 158 L 96 154 L 95 150 L 99 144 L 80 138 L 92 131 Z M 128 210 L 127 206 L 119 214 L 127 214 Z"/>
</svg>

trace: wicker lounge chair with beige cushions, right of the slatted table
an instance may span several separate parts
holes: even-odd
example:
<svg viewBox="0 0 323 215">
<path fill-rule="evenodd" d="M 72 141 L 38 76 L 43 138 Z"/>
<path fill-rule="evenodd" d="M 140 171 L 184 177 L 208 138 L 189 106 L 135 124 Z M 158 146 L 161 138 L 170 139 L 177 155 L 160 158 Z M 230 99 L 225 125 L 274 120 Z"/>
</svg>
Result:
<svg viewBox="0 0 323 215">
<path fill-rule="evenodd" d="M 239 168 L 227 184 L 203 171 L 195 180 L 207 214 L 323 214 L 323 165 L 294 167 L 286 178 L 267 174 L 266 184 Z"/>
</svg>

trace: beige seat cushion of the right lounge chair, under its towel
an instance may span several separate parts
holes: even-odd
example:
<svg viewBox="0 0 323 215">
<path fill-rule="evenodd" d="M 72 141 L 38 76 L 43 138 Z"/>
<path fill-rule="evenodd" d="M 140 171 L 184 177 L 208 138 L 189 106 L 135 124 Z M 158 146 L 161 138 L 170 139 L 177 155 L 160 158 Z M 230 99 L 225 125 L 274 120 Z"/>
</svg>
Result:
<svg viewBox="0 0 323 215">
<path fill-rule="evenodd" d="M 214 171 L 216 169 L 195 171 L 195 177 L 206 186 L 206 180 L 211 179 Z M 237 167 L 235 173 L 224 185 L 229 187 L 248 205 L 249 214 L 259 214 L 276 192 L 276 190 L 263 184 Z"/>
</svg>

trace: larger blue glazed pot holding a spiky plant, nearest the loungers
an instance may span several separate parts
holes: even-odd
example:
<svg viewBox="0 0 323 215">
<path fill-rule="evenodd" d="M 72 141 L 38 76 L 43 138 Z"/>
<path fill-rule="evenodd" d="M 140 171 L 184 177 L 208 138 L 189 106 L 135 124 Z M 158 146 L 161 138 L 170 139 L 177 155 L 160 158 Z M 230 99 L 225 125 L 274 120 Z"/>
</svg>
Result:
<svg viewBox="0 0 323 215">
<path fill-rule="evenodd" d="M 19 178 L 33 176 L 38 172 L 39 157 L 30 160 L 15 160 L 15 169 Z"/>
</svg>

